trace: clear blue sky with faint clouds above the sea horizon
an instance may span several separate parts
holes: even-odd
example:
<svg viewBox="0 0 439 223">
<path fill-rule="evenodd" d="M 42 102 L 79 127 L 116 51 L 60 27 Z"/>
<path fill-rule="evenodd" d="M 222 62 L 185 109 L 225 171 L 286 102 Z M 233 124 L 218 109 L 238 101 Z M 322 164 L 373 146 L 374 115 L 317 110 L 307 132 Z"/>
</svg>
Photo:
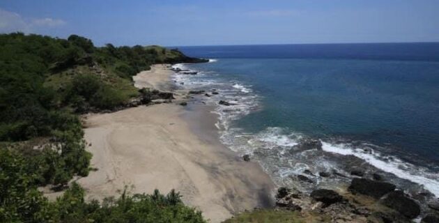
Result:
<svg viewBox="0 0 439 223">
<path fill-rule="evenodd" d="M 439 41 L 438 0 L 0 0 L 0 33 L 95 45 Z"/>
</svg>

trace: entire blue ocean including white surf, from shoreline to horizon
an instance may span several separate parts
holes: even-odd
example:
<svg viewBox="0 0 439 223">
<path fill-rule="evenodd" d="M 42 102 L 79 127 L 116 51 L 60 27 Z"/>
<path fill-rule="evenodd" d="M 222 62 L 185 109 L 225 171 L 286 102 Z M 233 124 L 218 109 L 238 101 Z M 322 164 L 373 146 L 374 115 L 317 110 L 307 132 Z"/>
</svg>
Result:
<svg viewBox="0 0 439 223">
<path fill-rule="evenodd" d="M 178 87 L 206 91 L 222 143 L 277 185 L 334 187 L 357 167 L 439 197 L 439 43 L 178 49 L 210 59 L 176 65 L 199 72 L 175 75 Z M 296 150 L 304 139 L 322 150 Z M 314 183 L 294 180 L 300 174 Z"/>
</svg>

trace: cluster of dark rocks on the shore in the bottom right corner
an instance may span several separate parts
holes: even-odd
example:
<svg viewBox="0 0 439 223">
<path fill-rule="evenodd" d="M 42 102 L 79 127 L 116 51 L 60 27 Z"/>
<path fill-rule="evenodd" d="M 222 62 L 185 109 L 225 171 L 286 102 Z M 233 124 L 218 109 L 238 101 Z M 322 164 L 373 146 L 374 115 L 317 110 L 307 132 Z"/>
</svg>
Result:
<svg viewBox="0 0 439 223">
<path fill-rule="evenodd" d="M 303 177 L 300 177 L 301 180 L 309 180 Z M 322 213 L 330 216 L 332 222 L 411 222 L 421 214 L 423 223 L 439 222 L 439 201 L 429 203 L 428 210 L 422 211 L 415 199 L 383 180 L 353 178 L 344 196 L 327 189 L 303 194 L 298 190 L 280 187 L 276 206 Z M 369 201 L 360 202 L 364 197 Z"/>
</svg>

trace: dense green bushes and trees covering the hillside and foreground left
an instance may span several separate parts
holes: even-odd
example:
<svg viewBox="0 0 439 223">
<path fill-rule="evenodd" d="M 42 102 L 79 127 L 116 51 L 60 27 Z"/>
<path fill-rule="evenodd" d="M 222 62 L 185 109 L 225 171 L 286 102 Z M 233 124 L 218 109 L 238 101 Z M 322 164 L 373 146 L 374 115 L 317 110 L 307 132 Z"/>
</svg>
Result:
<svg viewBox="0 0 439 223">
<path fill-rule="evenodd" d="M 124 192 L 84 201 L 73 183 L 48 201 L 39 186 L 87 176 L 78 114 L 123 106 L 139 95 L 132 75 L 153 63 L 196 62 L 162 47 L 95 47 L 91 40 L 0 35 L 0 222 L 204 222 L 180 195 Z"/>
</svg>

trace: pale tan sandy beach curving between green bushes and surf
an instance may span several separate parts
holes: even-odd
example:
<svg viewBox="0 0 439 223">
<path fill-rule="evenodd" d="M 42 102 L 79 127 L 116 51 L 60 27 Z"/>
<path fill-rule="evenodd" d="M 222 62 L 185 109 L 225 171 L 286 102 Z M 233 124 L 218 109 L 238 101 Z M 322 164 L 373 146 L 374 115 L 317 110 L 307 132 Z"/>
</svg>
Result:
<svg viewBox="0 0 439 223">
<path fill-rule="evenodd" d="M 166 65 L 153 66 L 133 78 L 134 86 L 171 91 L 171 74 Z M 210 222 L 271 202 L 270 177 L 219 143 L 206 106 L 169 103 L 84 118 L 98 169 L 78 180 L 88 199 L 117 196 L 125 185 L 132 193 L 176 189 Z"/>
</svg>

